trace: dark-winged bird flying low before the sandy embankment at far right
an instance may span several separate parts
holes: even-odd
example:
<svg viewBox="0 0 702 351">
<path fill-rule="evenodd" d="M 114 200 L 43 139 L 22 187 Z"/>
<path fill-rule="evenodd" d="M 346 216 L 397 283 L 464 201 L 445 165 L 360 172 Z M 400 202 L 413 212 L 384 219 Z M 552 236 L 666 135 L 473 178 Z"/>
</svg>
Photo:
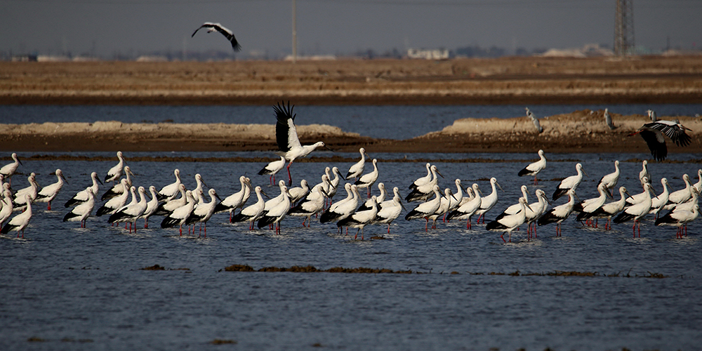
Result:
<svg viewBox="0 0 702 351">
<path fill-rule="evenodd" d="M 655 116 L 655 114 L 654 114 Z M 651 118 L 652 119 L 652 118 Z M 691 131 L 690 128 L 680 124 L 677 119 L 675 121 L 653 121 L 651 123 L 644 124 L 639 128 L 638 131 L 629 134 L 641 135 L 644 139 L 646 145 L 648 145 L 649 150 L 651 150 L 651 156 L 657 161 L 663 161 L 668 157 L 668 147 L 665 146 L 665 138 L 663 134 L 668 135 L 670 140 L 677 146 L 687 146 L 690 145 L 692 138 L 687 135 L 685 131 Z"/>
</svg>

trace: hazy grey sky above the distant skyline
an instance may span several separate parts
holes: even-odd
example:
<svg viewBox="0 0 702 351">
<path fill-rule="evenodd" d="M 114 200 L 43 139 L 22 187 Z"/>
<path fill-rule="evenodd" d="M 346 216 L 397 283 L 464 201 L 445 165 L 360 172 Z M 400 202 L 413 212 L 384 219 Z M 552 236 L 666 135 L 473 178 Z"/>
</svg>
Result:
<svg viewBox="0 0 702 351">
<path fill-rule="evenodd" d="M 292 0 L 0 0 L 0 51 L 78 55 L 231 48 L 291 51 Z M 298 53 L 397 48 L 575 48 L 614 43 L 615 0 L 297 0 Z M 702 0 L 634 0 L 635 43 L 702 45 Z"/>
</svg>

